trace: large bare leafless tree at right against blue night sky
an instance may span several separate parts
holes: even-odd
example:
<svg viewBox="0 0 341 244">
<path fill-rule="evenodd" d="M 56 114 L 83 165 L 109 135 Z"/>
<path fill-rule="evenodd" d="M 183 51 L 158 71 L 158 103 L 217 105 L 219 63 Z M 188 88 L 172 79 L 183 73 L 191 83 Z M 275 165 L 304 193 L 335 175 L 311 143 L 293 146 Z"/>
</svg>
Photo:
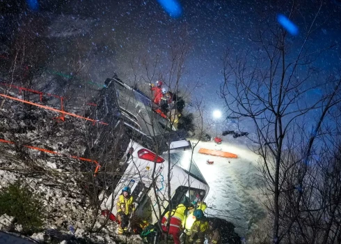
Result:
<svg viewBox="0 0 341 244">
<path fill-rule="evenodd" d="M 333 45 L 309 48 L 322 6 L 310 24 L 306 19 L 305 37 L 299 47 L 290 45 L 287 31 L 265 22 L 253 38 L 257 51 L 233 57 L 228 50 L 223 59 L 221 96 L 228 114 L 247 118 L 255 127 L 256 136 L 251 139 L 258 144 L 255 152 L 260 155 L 273 243 L 296 243 L 288 236 L 294 227 L 302 226 L 299 220 L 309 209 L 305 205 L 312 190 L 306 188 L 306 182 L 311 181 L 308 162 L 319 148 L 328 112 L 340 102 L 340 78 L 323 77 L 315 65 L 319 54 Z M 292 3 L 290 7 L 292 18 L 299 6 Z M 314 91 L 324 91 L 324 95 L 312 97 Z"/>
</svg>

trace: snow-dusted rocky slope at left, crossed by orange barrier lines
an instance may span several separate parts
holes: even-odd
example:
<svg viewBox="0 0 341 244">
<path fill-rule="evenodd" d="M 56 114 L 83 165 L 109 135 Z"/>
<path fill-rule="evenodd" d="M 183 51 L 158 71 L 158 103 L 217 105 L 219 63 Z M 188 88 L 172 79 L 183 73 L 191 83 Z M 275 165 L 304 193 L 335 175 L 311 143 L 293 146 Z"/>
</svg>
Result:
<svg viewBox="0 0 341 244">
<path fill-rule="evenodd" d="M 118 238 L 116 237 L 117 225 L 113 222 L 108 222 L 100 233 L 87 231 L 93 224 L 94 213 L 97 210 L 84 191 L 84 188 L 88 188 L 86 178 L 81 178 L 77 174 L 82 169 L 82 162 L 65 156 L 83 155 L 85 149 L 79 141 L 84 140 L 84 137 L 77 141 L 77 136 L 74 134 L 70 137 L 71 131 L 67 128 L 68 125 L 74 123 L 77 125 L 79 134 L 82 135 L 84 133 L 81 132 L 81 122 L 68 119 L 65 123 L 56 124 L 53 119 L 55 114 L 42 109 L 32 109 L 26 113 L 25 108 L 16 102 L 6 101 L 1 109 L 3 114 L 0 120 L 0 139 L 15 142 L 17 146 L 24 145 L 24 147 L 19 147 L 24 153 L 18 151 L 13 144 L 0 142 L 0 190 L 20 178 L 21 183 L 27 185 L 31 192 L 34 192 L 42 201 L 42 208 L 46 213 L 42 228 L 43 232 L 48 234 L 35 233 L 31 238 L 43 240 L 45 243 L 54 243 L 53 240 L 73 240 L 74 243 L 77 241 L 81 243 L 85 239 L 88 243 L 115 243 L 114 240 Z M 6 116 L 7 114 L 10 116 Z M 20 121 L 20 123 L 15 123 L 15 121 Z M 55 128 L 58 130 L 50 127 L 53 124 L 58 125 Z M 30 125 L 34 126 L 28 130 Z M 26 145 L 58 151 L 59 154 L 51 156 L 51 153 L 33 150 L 25 147 Z M 37 173 L 29 174 L 34 170 Z M 98 215 L 93 229 L 100 228 L 105 221 L 100 212 Z M 11 216 L 6 219 L 12 220 Z M 0 232 L 20 233 L 15 220 L 13 219 L 10 223 L 8 229 L 4 228 L 0 216 Z M 3 238 L 8 238 L 8 236 L 0 236 L 0 243 Z M 128 240 L 129 243 L 141 243 L 138 236 L 132 236 Z"/>
</svg>

